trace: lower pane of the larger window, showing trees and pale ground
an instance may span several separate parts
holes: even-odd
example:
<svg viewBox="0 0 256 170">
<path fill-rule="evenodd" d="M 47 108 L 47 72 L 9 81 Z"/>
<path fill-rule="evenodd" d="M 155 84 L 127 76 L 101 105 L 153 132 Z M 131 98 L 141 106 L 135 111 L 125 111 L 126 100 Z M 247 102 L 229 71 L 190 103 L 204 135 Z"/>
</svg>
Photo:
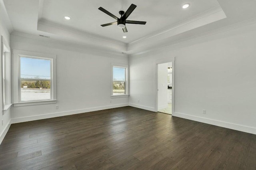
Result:
<svg viewBox="0 0 256 170">
<path fill-rule="evenodd" d="M 50 80 L 20 82 L 21 101 L 35 101 L 51 99 Z"/>
</svg>

